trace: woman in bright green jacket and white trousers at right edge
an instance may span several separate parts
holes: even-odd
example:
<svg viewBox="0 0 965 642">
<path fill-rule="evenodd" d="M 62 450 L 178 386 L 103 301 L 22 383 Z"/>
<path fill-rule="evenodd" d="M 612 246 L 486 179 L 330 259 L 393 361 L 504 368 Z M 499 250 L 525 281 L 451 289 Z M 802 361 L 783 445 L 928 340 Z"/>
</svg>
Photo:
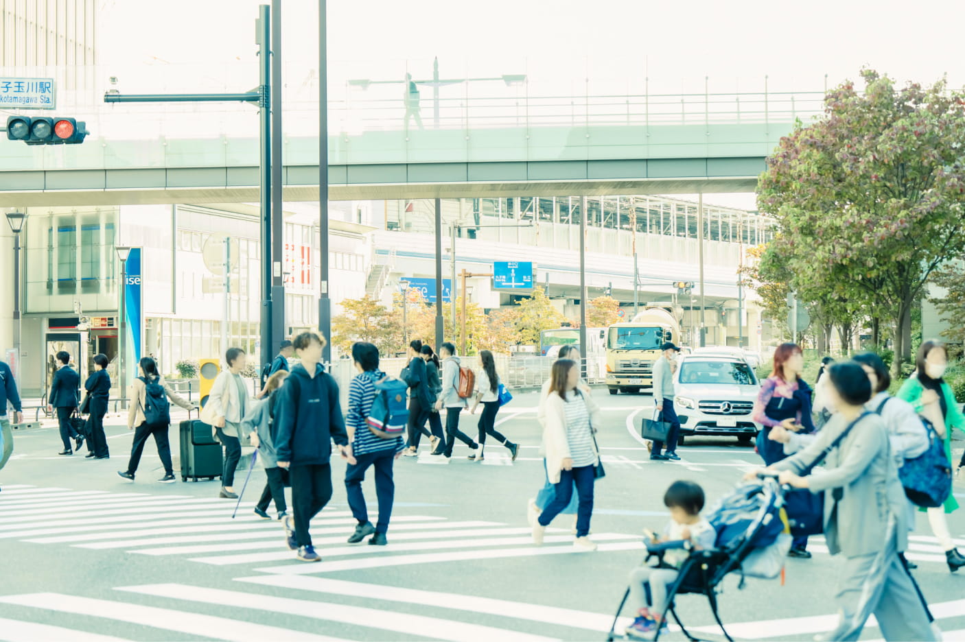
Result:
<svg viewBox="0 0 965 642">
<path fill-rule="evenodd" d="M 951 429 L 965 432 L 965 415 L 955 401 L 951 387 L 942 379 L 948 367 L 949 355 L 940 341 L 924 341 L 918 350 L 917 371 L 898 390 L 897 397 L 911 403 L 919 415 L 930 421 L 945 441 L 945 452 L 951 468 Z M 951 542 L 946 513 L 958 508 L 954 495 L 949 495 L 945 506 L 929 508 L 928 522 L 938 543 L 945 549 L 945 557 L 952 573 L 965 566 L 965 557 Z"/>
</svg>

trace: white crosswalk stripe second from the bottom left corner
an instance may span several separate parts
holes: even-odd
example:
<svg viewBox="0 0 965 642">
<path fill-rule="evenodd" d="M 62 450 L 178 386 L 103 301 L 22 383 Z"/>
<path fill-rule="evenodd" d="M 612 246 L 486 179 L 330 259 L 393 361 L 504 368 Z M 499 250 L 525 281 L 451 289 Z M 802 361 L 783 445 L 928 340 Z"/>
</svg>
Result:
<svg viewBox="0 0 965 642">
<path fill-rule="evenodd" d="M 174 630 L 189 635 L 210 638 L 212 633 L 219 640 L 232 642 L 264 642 L 265 640 L 290 640 L 291 642 L 333 642 L 336 638 L 290 629 L 279 629 L 252 622 L 241 622 L 213 615 L 177 611 L 157 606 L 143 606 L 126 602 L 112 602 L 96 598 L 84 598 L 61 593 L 31 593 L 0 597 L 0 602 L 31 606 L 48 611 L 75 613 L 77 615 L 128 622 L 154 629 Z M 73 637 L 64 639 L 72 640 Z"/>
</svg>

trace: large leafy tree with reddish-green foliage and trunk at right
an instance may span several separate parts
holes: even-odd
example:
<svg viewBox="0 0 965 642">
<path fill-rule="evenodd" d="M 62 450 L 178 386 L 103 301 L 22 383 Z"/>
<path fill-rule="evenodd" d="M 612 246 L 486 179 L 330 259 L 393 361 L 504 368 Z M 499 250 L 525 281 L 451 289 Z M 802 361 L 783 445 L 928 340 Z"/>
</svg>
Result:
<svg viewBox="0 0 965 642">
<path fill-rule="evenodd" d="M 944 80 L 896 88 L 865 69 L 825 97 L 767 158 L 758 208 L 781 233 L 769 252 L 828 300 L 857 300 L 911 356 L 911 311 L 935 268 L 965 249 L 965 94 Z M 855 301 L 857 304 L 858 301 Z"/>
</svg>

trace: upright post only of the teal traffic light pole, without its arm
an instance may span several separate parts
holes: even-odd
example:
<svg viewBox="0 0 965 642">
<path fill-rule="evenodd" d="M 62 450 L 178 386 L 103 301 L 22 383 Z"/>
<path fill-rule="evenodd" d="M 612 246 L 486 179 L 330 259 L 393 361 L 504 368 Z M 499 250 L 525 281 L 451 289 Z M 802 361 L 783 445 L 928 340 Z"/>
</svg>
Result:
<svg viewBox="0 0 965 642">
<path fill-rule="evenodd" d="M 261 193 L 262 193 L 262 350 L 261 362 L 271 361 L 271 8 L 259 6 L 259 82 L 262 97 L 258 101 L 261 124 Z M 227 280 L 229 275 L 225 274 Z"/>
</svg>

